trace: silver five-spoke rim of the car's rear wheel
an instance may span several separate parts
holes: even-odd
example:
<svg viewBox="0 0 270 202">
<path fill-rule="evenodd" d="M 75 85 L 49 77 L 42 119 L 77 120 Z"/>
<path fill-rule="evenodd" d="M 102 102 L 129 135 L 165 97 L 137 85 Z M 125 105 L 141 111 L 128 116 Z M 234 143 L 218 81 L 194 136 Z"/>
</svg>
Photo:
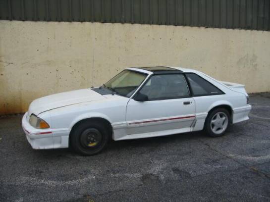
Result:
<svg viewBox="0 0 270 202">
<path fill-rule="evenodd" d="M 223 133 L 228 126 L 228 116 L 223 112 L 217 112 L 211 119 L 211 130 L 215 134 Z"/>
</svg>

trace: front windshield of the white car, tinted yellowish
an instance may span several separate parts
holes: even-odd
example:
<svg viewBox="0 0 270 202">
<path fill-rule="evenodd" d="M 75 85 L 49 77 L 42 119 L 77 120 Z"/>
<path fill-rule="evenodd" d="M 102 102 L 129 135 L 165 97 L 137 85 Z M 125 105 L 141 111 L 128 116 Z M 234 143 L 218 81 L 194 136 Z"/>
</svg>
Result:
<svg viewBox="0 0 270 202">
<path fill-rule="evenodd" d="M 130 98 L 146 77 L 147 74 L 141 72 L 124 70 L 103 86 L 120 96 Z"/>
</svg>

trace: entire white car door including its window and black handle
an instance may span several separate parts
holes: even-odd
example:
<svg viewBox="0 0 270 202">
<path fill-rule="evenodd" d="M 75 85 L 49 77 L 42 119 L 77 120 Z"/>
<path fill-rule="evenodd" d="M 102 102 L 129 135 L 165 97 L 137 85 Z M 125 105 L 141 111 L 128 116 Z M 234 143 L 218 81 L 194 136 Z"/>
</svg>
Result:
<svg viewBox="0 0 270 202">
<path fill-rule="evenodd" d="M 136 101 L 140 94 L 148 100 Z M 195 103 L 180 73 L 152 75 L 127 104 L 129 135 L 175 129 L 187 132 L 194 120 Z"/>
</svg>

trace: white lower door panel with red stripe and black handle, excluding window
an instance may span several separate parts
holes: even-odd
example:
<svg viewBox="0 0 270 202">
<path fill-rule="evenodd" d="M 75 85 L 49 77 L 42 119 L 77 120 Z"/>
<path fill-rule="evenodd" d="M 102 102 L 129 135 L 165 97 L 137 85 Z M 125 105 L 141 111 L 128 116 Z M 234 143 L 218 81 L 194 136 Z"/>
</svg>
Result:
<svg viewBox="0 0 270 202">
<path fill-rule="evenodd" d="M 184 105 L 189 101 L 190 104 Z M 127 135 L 162 130 L 190 128 L 195 119 L 195 105 L 192 98 L 158 101 L 134 101 L 127 104 Z"/>
</svg>

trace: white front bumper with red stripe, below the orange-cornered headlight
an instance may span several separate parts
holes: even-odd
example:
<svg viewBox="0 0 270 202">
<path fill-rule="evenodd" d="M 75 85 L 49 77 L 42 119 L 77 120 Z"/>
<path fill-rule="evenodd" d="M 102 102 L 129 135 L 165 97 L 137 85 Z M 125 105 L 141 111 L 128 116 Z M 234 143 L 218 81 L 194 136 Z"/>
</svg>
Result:
<svg viewBox="0 0 270 202">
<path fill-rule="evenodd" d="M 22 128 L 33 149 L 67 148 L 69 129 L 36 129 L 29 124 L 28 113 L 22 118 Z"/>
</svg>

